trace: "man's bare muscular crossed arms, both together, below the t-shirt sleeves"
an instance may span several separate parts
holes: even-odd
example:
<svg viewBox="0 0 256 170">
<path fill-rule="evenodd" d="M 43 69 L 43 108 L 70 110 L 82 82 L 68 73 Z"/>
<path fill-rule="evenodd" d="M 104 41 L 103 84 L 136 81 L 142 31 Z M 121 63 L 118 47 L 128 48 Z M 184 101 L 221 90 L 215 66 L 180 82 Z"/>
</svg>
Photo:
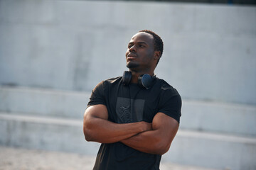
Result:
<svg viewBox="0 0 256 170">
<path fill-rule="evenodd" d="M 112 123 L 104 105 L 90 106 L 84 115 L 83 132 L 87 141 L 122 142 L 149 154 L 164 154 L 169 150 L 178 131 L 174 118 L 157 113 L 152 123 Z"/>
</svg>

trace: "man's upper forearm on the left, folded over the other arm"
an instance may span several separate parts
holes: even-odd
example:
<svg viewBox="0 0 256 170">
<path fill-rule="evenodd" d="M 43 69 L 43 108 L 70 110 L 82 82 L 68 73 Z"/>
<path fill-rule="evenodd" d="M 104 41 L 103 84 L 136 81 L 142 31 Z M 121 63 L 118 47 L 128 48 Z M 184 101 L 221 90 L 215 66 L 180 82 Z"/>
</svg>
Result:
<svg viewBox="0 0 256 170">
<path fill-rule="evenodd" d="M 88 118 L 84 133 L 87 141 L 113 143 L 149 130 L 147 126 L 144 122 L 118 124 L 102 118 Z"/>
</svg>

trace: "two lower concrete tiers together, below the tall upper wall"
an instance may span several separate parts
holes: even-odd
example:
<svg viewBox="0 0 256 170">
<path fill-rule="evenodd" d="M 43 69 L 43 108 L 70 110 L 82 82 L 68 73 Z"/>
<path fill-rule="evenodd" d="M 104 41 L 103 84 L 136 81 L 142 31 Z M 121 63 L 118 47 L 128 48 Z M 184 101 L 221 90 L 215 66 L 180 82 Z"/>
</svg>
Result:
<svg viewBox="0 0 256 170">
<path fill-rule="evenodd" d="M 90 92 L 0 88 L 0 145 L 96 156 L 82 115 Z M 181 125 L 161 162 L 256 169 L 256 106 L 183 100 Z"/>
</svg>

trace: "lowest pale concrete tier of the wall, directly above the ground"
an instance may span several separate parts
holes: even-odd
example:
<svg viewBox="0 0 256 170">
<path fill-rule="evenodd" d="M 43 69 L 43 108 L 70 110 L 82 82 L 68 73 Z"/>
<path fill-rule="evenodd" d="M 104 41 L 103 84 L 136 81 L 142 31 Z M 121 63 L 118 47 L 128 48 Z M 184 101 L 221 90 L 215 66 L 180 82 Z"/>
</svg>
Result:
<svg viewBox="0 0 256 170">
<path fill-rule="evenodd" d="M 86 142 L 82 119 L 0 113 L 0 145 L 96 155 L 100 145 Z M 233 170 L 256 168 L 256 138 L 178 130 L 163 163 Z"/>
</svg>

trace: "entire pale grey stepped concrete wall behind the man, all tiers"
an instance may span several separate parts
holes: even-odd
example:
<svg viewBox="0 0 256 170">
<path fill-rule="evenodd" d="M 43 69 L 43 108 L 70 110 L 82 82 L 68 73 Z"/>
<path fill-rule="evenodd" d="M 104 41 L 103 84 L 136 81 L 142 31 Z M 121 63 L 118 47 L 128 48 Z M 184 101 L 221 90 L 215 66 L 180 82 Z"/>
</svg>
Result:
<svg viewBox="0 0 256 170">
<path fill-rule="evenodd" d="M 0 0 L 0 152 L 95 158 L 99 144 L 82 133 L 90 93 L 122 76 L 129 40 L 149 29 L 164 40 L 155 73 L 183 99 L 161 162 L 255 170 L 255 4 Z"/>
</svg>

